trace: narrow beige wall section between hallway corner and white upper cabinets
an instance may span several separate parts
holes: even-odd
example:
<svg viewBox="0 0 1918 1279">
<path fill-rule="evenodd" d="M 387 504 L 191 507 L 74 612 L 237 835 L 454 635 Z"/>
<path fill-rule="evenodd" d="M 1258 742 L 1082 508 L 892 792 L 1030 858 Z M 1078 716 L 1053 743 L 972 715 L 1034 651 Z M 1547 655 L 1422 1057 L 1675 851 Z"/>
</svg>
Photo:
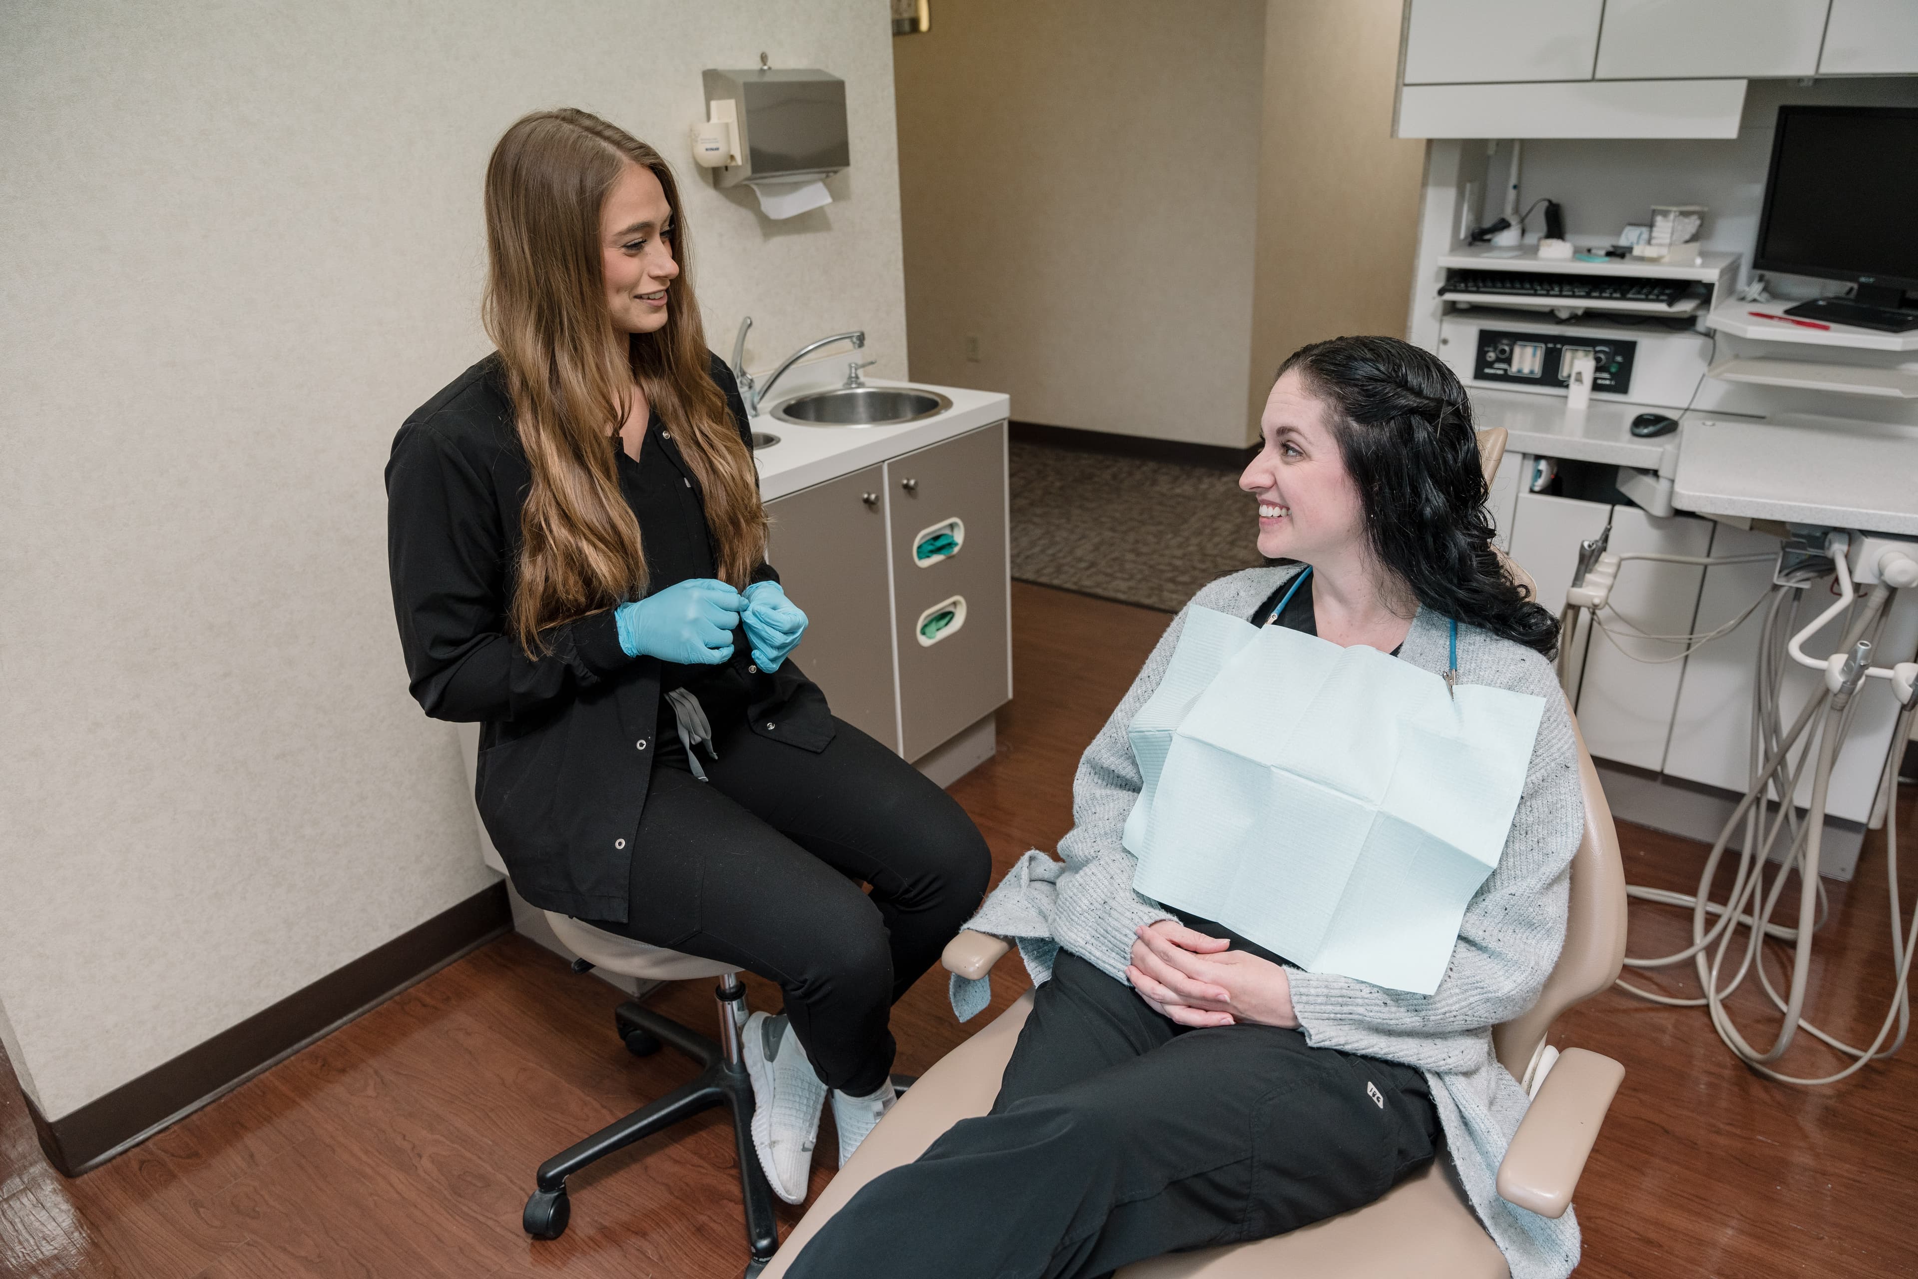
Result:
<svg viewBox="0 0 1918 1279">
<path fill-rule="evenodd" d="M 1406 336 L 1425 144 L 1392 138 L 1402 0 L 1272 0 L 1251 422 L 1279 362 L 1343 334 Z"/>
</svg>

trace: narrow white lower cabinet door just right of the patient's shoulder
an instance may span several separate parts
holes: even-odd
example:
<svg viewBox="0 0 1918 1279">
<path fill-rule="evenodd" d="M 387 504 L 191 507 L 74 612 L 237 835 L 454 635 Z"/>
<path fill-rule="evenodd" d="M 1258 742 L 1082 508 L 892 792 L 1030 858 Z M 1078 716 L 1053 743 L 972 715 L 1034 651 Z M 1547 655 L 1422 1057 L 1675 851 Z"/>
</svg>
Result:
<svg viewBox="0 0 1918 1279">
<path fill-rule="evenodd" d="M 1659 518 L 1636 506 L 1615 506 L 1611 550 L 1701 556 L 1711 546 L 1711 520 Z M 1579 729 L 1598 759 L 1651 771 L 1665 763 L 1686 644 L 1632 633 L 1692 633 L 1703 575 L 1705 570 L 1696 564 L 1655 560 L 1628 560 L 1619 570 L 1611 608 L 1598 617 L 1607 633 L 1592 635 L 1579 685 Z"/>
</svg>

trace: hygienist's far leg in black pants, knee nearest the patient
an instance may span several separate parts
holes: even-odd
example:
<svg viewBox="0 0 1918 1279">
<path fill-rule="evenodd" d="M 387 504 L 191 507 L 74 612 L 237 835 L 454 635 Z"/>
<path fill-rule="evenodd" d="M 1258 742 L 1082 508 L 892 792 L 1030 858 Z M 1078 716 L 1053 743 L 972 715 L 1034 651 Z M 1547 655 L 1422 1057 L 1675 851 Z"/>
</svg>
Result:
<svg viewBox="0 0 1918 1279">
<path fill-rule="evenodd" d="M 719 734 L 719 759 L 706 763 L 706 775 L 794 844 L 873 886 L 898 999 L 978 909 L 992 851 L 957 800 L 859 729 L 836 723 L 819 754 L 738 723 Z"/>
</svg>

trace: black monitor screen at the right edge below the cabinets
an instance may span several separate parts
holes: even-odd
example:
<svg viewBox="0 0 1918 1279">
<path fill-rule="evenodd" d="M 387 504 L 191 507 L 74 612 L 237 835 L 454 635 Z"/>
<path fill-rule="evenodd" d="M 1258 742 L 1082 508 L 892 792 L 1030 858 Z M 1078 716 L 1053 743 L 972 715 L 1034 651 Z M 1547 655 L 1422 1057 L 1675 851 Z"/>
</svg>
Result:
<svg viewBox="0 0 1918 1279">
<path fill-rule="evenodd" d="M 1780 107 L 1753 265 L 1918 288 L 1918 109 Z"/>
</svg>

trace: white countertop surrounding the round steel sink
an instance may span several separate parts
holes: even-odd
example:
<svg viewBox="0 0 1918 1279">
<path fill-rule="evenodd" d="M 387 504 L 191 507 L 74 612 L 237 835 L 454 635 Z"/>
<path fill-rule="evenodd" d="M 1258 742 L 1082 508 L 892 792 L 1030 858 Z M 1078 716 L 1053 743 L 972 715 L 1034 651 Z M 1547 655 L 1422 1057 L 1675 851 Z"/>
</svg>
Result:
<svg viewBox="0 0 1918 1279">
<path fill-rule="evenodd" d="M 794 422 L 781 422 L 771 412 L 794 395 L 832 385 L 838 385 L 838 382 L 807 385 L 798 378 L 781 378 L 775 393 L 767 397 L 763 410 L 754 416 L 752 430 L 779 435 L 777 445 L 756 449 L 752 454 L 760 466 L 760 497 L 765 500 L 809 489 L 827 479 L 838 479 L 865 466 L 936 445 L 953 435 L 965 435 L 980 426 L 1003 422 L 1011 416 L 1013 405 L 1009 397 L 997 391 L 871 380 L 867 385 L 938 391 L 953 407 L 938 416 L 903 426 L 798 426 Z"/>
</svg>

